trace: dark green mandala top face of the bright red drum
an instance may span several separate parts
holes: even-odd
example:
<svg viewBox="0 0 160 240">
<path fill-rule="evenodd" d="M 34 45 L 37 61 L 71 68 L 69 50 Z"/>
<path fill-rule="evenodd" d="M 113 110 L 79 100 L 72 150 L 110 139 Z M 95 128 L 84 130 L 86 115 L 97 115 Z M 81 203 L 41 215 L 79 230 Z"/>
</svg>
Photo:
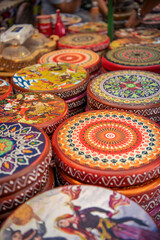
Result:
<svg viewBox="0 0 160 240">
<path fill-rule="evenodd" d="M 113 63 L 129 66 L 150 66 L 160 64 L 160 50 L 153 47 L 123 47 L 110 50 L 105 58 Z"/>
</svg>

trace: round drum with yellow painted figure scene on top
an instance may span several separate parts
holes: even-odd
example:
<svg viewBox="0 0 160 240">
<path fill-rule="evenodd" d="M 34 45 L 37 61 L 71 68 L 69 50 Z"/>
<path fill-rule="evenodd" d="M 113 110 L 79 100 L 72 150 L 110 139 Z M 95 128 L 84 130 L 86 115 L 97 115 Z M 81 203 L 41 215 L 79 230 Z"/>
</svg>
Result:
<svg viewBox="0 0 160 240">
<path fill-rule="evenodd" d="M 54 93 L 63 99 L 86 90 L 89 74 L 81 67 L 68 63 L 36 64 L 19 70 L 12 79 L 16 91 Z"/>
</svg>

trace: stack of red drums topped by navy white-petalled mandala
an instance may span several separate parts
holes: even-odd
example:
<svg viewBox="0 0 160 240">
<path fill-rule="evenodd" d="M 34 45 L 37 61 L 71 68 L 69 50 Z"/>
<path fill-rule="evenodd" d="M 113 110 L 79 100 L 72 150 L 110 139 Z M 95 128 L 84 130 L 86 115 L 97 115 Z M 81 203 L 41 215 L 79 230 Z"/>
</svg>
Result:
<svg viewBox="0 0 160 240">
<path fill-rule="evenodd" d="M 43 130 L 17 122 L 0 124 L 0 220 L 54 186 L 51 143 Z"/>
</svg>

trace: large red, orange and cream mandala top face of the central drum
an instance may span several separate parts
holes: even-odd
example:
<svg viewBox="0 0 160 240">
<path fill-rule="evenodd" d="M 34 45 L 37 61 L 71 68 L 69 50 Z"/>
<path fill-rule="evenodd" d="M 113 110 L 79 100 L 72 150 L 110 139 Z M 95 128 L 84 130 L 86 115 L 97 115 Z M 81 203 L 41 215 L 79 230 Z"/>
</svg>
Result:
<svg viewBox="0 0 160 240">
<path fill-rule="evenodd" d="M 68 119 L 58 130 L 57 144 L 69 161 L 80 165 L 133 169 L 157 159 L 159 137 L 158 125 L 146 118 L 101 110 Z"/>
</svg>

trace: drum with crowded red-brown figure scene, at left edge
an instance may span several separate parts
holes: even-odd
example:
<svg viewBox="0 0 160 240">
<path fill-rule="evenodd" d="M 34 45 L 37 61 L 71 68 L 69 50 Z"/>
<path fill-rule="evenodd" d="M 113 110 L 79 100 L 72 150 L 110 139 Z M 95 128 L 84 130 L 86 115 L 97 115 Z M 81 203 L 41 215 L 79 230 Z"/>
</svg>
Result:
<svg viewBox="0 0 160 240">
<path fill-rule="evenodd" d="M 0 122 L 23 122 L 48 135 L 68 117 L 66 102 L 50 93 L 17 93 L 0 101 Z"/>
</svg>

